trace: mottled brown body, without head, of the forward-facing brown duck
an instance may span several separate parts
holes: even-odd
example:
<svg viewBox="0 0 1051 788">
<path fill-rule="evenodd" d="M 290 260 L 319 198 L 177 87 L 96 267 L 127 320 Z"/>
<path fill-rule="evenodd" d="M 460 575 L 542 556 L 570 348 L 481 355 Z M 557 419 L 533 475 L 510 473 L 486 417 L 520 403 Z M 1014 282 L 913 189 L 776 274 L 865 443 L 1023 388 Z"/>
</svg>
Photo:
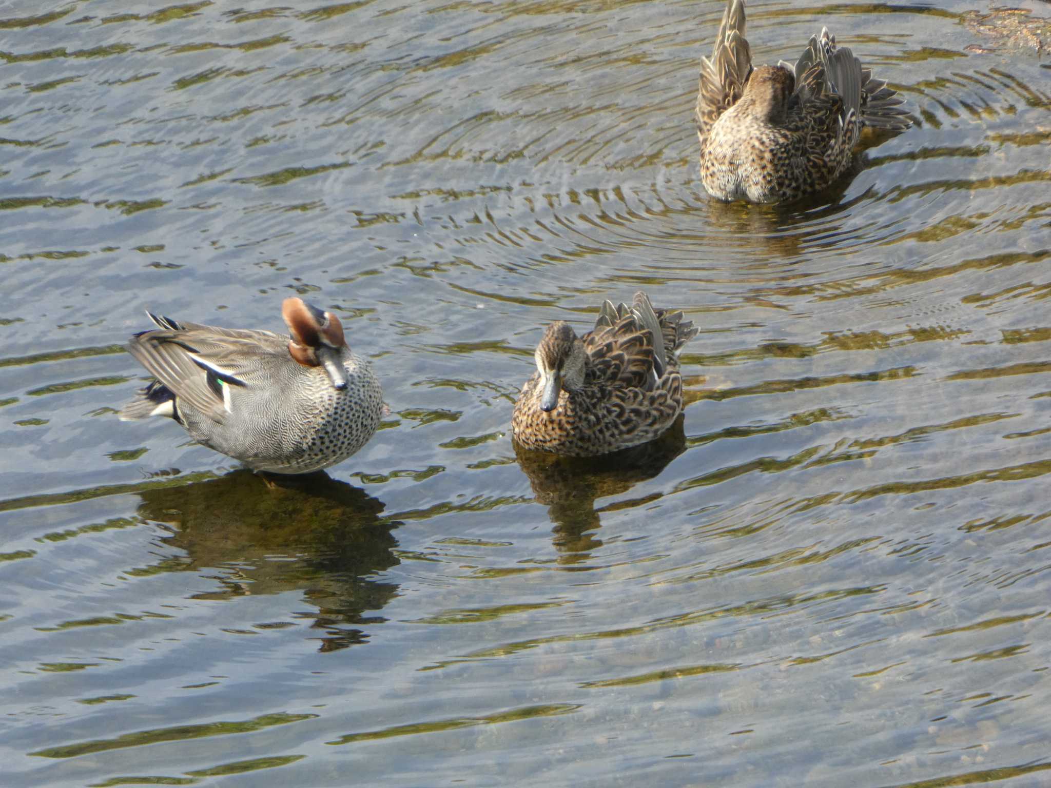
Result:
<svg viewBox="0 0 1051 788">
<path fill-rule="evenodd" d="M 606 454 L 658 437 L 682 411 L 676 354 L 697 329 L 682 320 L 682 312 L 655 312 L 644 293 L 636 294 L 631 308 L 610 305 L 610 310 L 615 317 L 610 325 L 600 316 L 595 330 L 581 337 L 583 385 L 572 391 L 563 388 L 555 410 L 540 409 L 539 373 L 522 387 L 512 419 L 521 445 L 573 456 Z M 660 327 L 657 340 L 667 367 L 658 379 L 654 379 L 655 337 L 632 310 L 650 310 Z"/>
</svg>

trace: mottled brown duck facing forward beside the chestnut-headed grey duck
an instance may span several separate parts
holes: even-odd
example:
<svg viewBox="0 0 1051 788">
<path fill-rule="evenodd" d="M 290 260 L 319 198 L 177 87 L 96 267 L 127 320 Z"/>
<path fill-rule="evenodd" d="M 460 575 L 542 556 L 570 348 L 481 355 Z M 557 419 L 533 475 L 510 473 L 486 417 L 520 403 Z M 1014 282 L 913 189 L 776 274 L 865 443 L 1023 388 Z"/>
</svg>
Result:
<svg viewBox="0 0 1051 788">
<path fill-rule="evenodd" d="M 602 304 L 595 328 L 577 336 L 564 320 L 544 330 L 536 372 L 521 388 L 512 436 L 521 447 L 592 457 L 659 437 L 682 413 L 678 354 L 698 333 L 682 312 Z"/>
</svg>

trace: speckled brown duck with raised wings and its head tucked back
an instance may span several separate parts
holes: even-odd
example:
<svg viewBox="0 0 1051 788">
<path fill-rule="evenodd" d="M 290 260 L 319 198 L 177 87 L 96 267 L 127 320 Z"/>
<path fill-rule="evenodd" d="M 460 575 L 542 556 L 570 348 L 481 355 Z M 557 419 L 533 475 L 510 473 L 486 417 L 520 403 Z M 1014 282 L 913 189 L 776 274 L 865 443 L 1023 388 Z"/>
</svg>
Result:
<svg viewBox="0 0 1051 788">
<path fill-rule="evenodd" d="M 744 0 L 728 0 L 710 60 L 701 58 L 695 118 L 701 182 L 716 200 L 787 203 L 850 167 L 862 129 L 911 125 L 898 92 L 827 27 L 795 64 L 753 67 Z"/>
</svg>

